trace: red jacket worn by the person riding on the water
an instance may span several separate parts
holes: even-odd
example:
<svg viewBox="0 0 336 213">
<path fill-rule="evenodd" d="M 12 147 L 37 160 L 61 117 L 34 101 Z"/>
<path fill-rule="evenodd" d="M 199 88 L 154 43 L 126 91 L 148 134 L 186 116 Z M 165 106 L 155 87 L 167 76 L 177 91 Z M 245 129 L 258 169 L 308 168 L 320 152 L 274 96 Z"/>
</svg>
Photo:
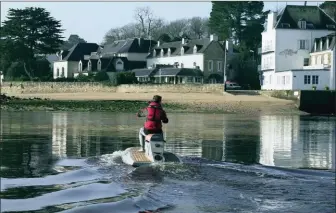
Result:
<svg viewBox="0 0 336 213">
<path fill-rule="evenodd" d="M 162 109 L 161 104 L 150 102 L 149 106 L 142 110 L 147 111 L 146 122 L 144 128 L 148 130 L 161 130 L 162 123 L 168 123 L 166 112 Z M 138 113 L 139 116 L 139 113 Z M 162 123 L 161 123 L 162 122 Z"/>
</svg>

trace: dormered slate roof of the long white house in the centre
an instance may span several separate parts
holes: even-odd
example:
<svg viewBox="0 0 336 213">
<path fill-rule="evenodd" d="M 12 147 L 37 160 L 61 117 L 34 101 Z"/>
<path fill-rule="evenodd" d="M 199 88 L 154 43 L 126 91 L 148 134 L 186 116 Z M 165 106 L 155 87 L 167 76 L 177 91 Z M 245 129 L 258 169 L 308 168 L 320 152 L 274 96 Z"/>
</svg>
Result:
<svg viewBox="0 0 336 213">
<path fill-rule="evenodd" d="M 170 48 L 170 56 L 179 56 L 181 55 L 181 48 L 184 47 L 184 54 L 193 54 L 194 46 L 197 47 L 197 53 L 203 53 L 209 44 L 211 43 L 209 38 L 203 39 L 193 39 L 187 40 L 185 39 L 185 44 L 182 44 L 182 41 L 173 41 L 163 43 L 160 46 L 155 46 L 151 51 L 147 58 L 153 58 L 153 51 L 156 51 L 156 57 L 160 57 L 160 52 L 163 49 L 164 55 L 168 56 L 168 49 Z"/>
</svg>

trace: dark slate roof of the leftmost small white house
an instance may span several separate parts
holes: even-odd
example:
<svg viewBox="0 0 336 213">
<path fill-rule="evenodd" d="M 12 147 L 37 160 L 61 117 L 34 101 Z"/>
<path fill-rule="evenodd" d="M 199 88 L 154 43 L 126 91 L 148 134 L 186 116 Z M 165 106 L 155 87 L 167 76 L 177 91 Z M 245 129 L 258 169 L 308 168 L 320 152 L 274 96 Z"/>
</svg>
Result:
<svg viewBox="0 0 336 213">
<path fill-rule="evenodd" d="M 96 52 L 99 45 L 96 43 L 78 43 L 69 50 L 62 53 L 63 61 L 80 61 L 84 59 L 84 55 L 90 55 L 91 52 Z"/>
</svg>

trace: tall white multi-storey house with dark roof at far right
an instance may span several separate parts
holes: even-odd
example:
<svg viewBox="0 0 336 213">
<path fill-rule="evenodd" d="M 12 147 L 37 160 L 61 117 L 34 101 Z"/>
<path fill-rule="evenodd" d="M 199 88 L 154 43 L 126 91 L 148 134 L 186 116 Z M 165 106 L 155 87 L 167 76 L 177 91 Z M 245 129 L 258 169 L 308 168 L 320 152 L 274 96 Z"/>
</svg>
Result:
<svg viewBox="0 0 336 213">
<path fill-rule="evenodd" d="M 330 35 L 335 31 L 335 26 L 335 21 L 317 6 L 287 5 L 279 15 L 276 12 L 269 13 L 265 30 L 261 34 L 262 47 L 259 50 L 261 88 L 264 90 L 304 90 L 312 89 L 313 86 L 317 89 L 325 89 L 326 86 L 330 89 L 335 88 L 329 80 L 335 76 L 332 60 L 329 65 L 324 66 L 322 65 L 324 62 L 317 62 L 319 65 L 316 66 L 315 57 L 311 57 L 314 55 L 311 53 L 312 49 L 319 45 L 315 44 L 315 39 Z M 330 49 L 332 45 L 330 40 L 328 42 Z M 331 55 L 331 58 L 335 58 L 334 56 Z"/>
</svg>

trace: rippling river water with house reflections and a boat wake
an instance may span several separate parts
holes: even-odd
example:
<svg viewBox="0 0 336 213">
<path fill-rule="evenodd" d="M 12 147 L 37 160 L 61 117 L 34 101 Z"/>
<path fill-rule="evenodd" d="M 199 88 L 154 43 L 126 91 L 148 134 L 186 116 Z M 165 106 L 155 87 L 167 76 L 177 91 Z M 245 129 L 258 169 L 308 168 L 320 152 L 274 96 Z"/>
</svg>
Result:
<svg viewBox="0 0 336 213">
<path fill-rule="evenodd" d="M 135 169 L 134 114 L 1 112 L 1 212 L 335 211 L 335 118 L 169 118 L 183 163 Z"/>
</svg>

